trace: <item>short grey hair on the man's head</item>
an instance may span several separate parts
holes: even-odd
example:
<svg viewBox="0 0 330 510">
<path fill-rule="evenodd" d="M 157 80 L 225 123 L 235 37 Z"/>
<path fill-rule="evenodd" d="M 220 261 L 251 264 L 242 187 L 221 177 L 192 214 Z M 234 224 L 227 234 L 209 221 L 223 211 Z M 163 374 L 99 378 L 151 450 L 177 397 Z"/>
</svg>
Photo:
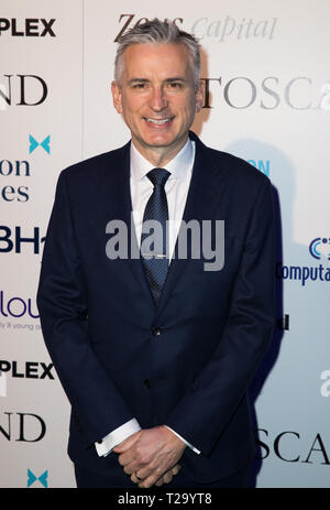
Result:
<svg viewBox="0 0 330 510">
<path fill-rule="evenodd" d="M 119 46 L 117 50 L 114 61 L 114 79 L 120 84 L 124 51 L 133 44 L 184 44 L 188 50 L 193 70 L 194 83 L 198 86 L 200 74 L 200 45 L 195 35 L 179 30 L 175 23 L 167 21 L 160 21 L 154 19 L 140 25 L 133 26 L 119 39 Z"/>
</svg>

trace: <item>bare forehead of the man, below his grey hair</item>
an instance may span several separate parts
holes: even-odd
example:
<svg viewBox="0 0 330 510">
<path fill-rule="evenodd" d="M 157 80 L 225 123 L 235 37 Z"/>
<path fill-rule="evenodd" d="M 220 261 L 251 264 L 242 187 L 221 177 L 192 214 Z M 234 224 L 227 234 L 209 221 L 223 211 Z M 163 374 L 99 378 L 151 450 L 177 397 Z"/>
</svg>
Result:
<svg viewBox="0 0 330 510">
<path fill-rule="evenodd" d="M 183 76 L 193 73 L 189 52 L 184 44 L 133 44 L 123 54 L 123 72 L 127 78 L 133 75 L 147 77 Z"/>
</svg>

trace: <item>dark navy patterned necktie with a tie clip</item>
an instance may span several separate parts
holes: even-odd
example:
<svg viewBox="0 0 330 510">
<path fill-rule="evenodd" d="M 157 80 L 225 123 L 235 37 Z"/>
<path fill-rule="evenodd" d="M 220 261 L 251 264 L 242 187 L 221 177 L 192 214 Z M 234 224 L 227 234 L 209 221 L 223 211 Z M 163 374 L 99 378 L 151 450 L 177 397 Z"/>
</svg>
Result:
<svg viewBox="0 0 330 510">
<path fill-rule="evenodd" d="M 168 269 L 166 237 L 168 207 L 165 183 L 169 177 L 169 172 L 165 169 L 153 169 L 146 174 L 146 176 L 153 183 L 154 191 L 144 209 L 141 235 L 141 254 L 152 294 L 157 303 Z M 147 224 L 145 224 L 146 221 Z M 145 231 L 143 231 L 143 226 L 152 227 L 153 225 L 154 228 L 146 228 Z M 150 236 L 152 236 L 152 238 Z M 152 239 L 154 242 L 147 242 L 147 239 L 148 241 Z"/>
</svg>

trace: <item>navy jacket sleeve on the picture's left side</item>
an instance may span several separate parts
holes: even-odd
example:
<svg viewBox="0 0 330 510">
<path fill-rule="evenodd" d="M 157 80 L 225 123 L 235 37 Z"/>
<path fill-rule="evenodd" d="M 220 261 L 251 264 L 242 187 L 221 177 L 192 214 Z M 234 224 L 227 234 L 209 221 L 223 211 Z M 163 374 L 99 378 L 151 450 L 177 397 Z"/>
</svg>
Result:
<svg viewBox="0 0 330 510">
<path fill-rule="evenodd" d="M 88 296 L 66 189 L 57 183 L 40 276 L 37 306 L 46 347 L 89 445 L 133 417 L 97 358 Z"/>
</svg>

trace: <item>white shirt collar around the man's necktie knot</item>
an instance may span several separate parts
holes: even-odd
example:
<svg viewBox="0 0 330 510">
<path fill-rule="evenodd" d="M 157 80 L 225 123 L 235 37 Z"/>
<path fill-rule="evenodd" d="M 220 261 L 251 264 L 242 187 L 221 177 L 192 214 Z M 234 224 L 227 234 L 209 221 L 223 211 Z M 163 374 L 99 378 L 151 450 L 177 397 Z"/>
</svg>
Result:
<svg viewBox="0 0 330 510">
<path fill-rule="evenodd" d="M 131 142 L 131 177 L 134 181 L 141 181 L 147 172 L 150 172 L 155 166 L 152 165 L 134 147 Z M 193 171 L 195 160 L 195 142 L 188 138 L 187 142 L 183 149 L 176 154 L 176 156 L 170 160 L 164 169 L 169 173 L 170 178 L 182 178 L 184 180 L 187 175 L 187 172 Z"/>
</svg>

